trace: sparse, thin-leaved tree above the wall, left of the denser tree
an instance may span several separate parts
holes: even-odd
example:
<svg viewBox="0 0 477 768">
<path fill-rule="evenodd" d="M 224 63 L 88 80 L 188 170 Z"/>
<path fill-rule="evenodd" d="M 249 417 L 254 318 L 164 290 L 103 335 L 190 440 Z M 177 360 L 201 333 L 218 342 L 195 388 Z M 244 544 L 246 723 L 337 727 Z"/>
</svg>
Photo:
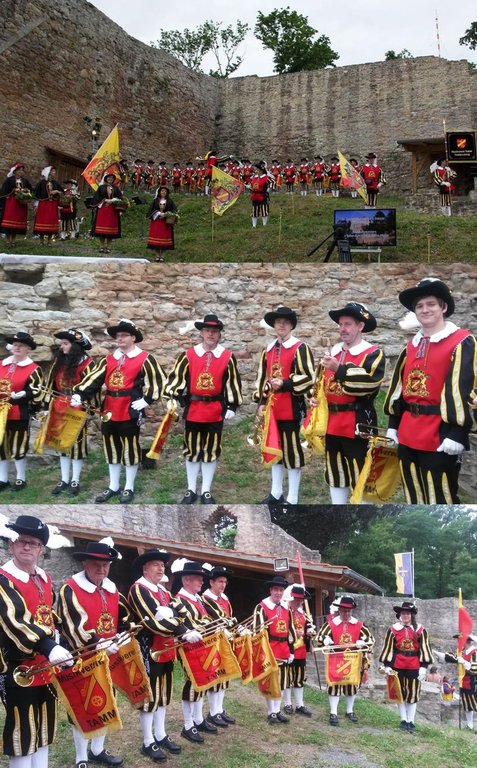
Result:
<svg viewBox="0 0 477 768">
<path fill-rule="evenodd" d="M 237 24 L 222 26 L 221 22 L 205 21 L 195 30 L 164 30 L 153 48 L 162 48 L 182 61 L 194 72 L 202 72 L 202 61 L 211 53 L 215 57 L 217 67 L 211 69 L 212 77 L 228 77 L 239 68 L 243 61 L 237 51 L 245 39 L 250 27 L 241 21 Z"/>
</svg>

